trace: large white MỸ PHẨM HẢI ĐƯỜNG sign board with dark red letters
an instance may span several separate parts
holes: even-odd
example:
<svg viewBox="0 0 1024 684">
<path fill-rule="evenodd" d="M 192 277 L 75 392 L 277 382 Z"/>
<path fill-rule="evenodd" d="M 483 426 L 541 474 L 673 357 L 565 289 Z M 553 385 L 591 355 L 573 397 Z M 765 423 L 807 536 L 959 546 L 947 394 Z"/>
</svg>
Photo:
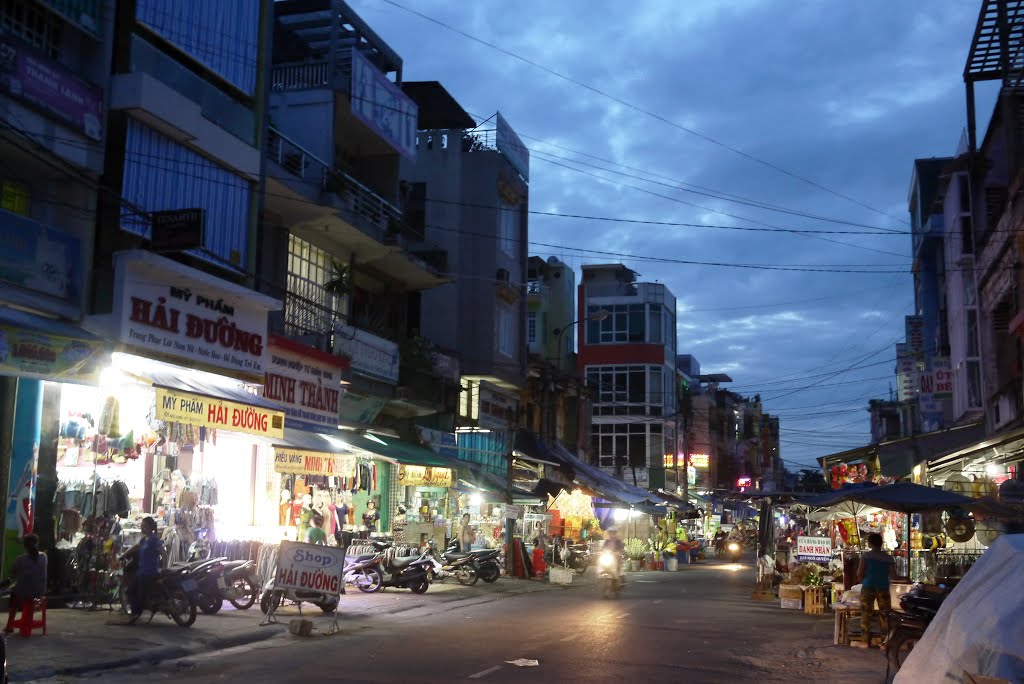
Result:
<svg viewBox="0 0 1024 684">
<path fill-rule="evenodd" d="M 265 372 L 267 311 L 280 306 L 258 293 L 147 253 L 119 255 L 115 311 L 125 344 L 236 375 Z"/>
</svg>

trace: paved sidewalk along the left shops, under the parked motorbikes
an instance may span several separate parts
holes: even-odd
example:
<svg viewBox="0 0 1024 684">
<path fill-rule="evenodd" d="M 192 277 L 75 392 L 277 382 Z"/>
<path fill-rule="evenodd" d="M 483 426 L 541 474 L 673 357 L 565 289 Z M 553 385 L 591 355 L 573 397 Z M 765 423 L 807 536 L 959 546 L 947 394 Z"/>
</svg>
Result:
<svg viewBox="0 0 1024 684">
<path fill-rule="evenodd" d="M 473 587 L 463 587 L 449 580 L 444 584 L 431 585 L 422 595 L 402 589 L 364 594 L 349 587 L 341 597 L 339 624 L 344 634 L 348 628 L 368 629 L 399 613 L 418 610 L 434 613 L 565 589 L 545 582 L 505 578 L 493 585 L 479 582 Z M 288 639 L 288 623 L 298 617 L 299 612 L 292 606 L 282 608 L 278 615 L 278 624 L 260 627 L 263 613 L 258 604 L 250 610 L 236 610 L 225 603 L 216 615 L 200 612 L 191 628 L 182 629 L 166 615 L 158 614 L 148 625 L 140 621 L 137 625 L 124 626 L 119 624 L 122 616 L 118 612 L 51 606 L 47 612 L 46 636 L 38 632 L 28 639 L 9 635 L 7 666 L 11 681 L 24 682 L 159 662 L 269 639 Z M 311 619 L 322 633 L 327 632 L 331 623 L 330 617 L 312 605 L 305 606 L 302 616 Z"/>
</svg>

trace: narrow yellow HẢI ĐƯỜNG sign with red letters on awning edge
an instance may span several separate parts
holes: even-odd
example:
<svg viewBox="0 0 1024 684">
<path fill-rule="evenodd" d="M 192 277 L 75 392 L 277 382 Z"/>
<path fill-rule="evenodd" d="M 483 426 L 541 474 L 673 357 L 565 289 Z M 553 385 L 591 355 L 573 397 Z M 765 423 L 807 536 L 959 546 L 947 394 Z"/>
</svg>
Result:
<svg viewBox="0 0 1024 684">
<path fill-rule="evenodd" d="M 285 436 L 283 411 L 213 399 L 163 387 L 157 388 L 157 420 L 276 439 Z"/>
</svg>

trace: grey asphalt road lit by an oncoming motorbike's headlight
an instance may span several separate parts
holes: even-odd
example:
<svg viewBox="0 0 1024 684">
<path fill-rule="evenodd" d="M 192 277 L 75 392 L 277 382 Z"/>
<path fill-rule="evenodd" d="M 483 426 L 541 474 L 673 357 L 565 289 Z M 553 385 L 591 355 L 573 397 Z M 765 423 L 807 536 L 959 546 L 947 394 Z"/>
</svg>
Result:
<svg viewBox="0 0 1024 684">
<path fill-rule="evenodd" d="M 752 601 L 752 585 L 749 565 L 709 563 L 631 575 L 617 600 L 593 586 L 504 597 L 481 590 L 473 600 L 356 617 L 341 635 L 274 639 L 103 681 L 883 681 L 881 652 L 831 646 L 829 617 Z M 508 662 L 519 658 L 539 665 Z"/>
</svg>

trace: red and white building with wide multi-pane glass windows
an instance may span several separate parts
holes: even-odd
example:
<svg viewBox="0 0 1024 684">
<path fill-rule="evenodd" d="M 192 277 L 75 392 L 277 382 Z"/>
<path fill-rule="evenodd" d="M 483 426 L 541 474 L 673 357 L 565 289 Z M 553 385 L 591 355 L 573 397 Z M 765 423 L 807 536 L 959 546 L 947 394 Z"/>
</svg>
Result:
<svg viewBox="0 0 1024 684">
<path fill-rule="evenodd" d="M 665 467 L 680 446 L 675 296 L 622 264 L 585 265 L 579 310 L 594 462 L 638 485 L 675 489 L 675 469 Z"/>
</svg>

